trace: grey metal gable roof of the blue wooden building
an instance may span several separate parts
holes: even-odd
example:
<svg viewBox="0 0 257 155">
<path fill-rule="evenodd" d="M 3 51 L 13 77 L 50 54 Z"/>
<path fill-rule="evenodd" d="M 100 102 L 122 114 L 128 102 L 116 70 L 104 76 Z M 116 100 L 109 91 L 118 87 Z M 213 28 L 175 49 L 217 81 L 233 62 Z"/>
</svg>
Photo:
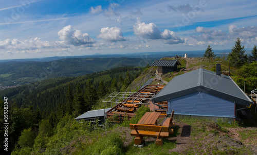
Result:
<svg viewBox="0 0 257 155">
<path fill-rule="evenodd" d="M 253 104 L 230 76 L 219 76 L 216 72 L 202 68 L 174 77 L 152 101 L 157 103 L 199 91 L 244 106 Z"/>
</svg>

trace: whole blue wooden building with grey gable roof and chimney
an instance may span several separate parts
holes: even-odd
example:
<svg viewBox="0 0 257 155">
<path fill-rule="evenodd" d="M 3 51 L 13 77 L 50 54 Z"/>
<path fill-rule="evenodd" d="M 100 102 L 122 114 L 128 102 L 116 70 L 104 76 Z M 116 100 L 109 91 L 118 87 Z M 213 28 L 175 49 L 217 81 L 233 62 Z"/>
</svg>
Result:
<svg viewBox="0 0 257 155">
<path fill-rule="evenodd" d="M 175 110 L 175 118 L 218 119 L 231 121 L 238 114 L 246 114 L 246 107 L 253 104 L 230 76 L 197 69 L 174 77 L 152 99 L 154 103 L 168 101 L 167 113 Z"/>
</svg>

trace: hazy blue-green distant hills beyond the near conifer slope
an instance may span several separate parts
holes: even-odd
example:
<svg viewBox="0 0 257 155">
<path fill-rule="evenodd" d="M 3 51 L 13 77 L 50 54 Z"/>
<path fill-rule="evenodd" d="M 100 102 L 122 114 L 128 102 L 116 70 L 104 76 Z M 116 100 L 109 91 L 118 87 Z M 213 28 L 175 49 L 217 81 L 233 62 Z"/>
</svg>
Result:
<svg viewBox="0 0 257 155">
<path fill-rule="evenodd" d="M 76 77 L 122 66 L 143 67 L 154 59 L 140 58 L 70 58 L 51 62 L 0 63 L 0 86 L 23 85 L 53 77 Z"/>
</svg>

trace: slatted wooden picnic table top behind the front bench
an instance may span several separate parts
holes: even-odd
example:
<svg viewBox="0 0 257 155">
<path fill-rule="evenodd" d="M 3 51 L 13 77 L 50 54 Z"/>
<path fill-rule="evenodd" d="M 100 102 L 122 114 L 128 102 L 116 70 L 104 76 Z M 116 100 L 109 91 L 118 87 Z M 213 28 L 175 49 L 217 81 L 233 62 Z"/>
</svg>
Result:
<svg viewBox="0 0 257 155">
<path fill-rule="evenodd" d="M 145 112 L 137 124 L 158 125 L 157 119 L 161 112 Z"/>
</svg>

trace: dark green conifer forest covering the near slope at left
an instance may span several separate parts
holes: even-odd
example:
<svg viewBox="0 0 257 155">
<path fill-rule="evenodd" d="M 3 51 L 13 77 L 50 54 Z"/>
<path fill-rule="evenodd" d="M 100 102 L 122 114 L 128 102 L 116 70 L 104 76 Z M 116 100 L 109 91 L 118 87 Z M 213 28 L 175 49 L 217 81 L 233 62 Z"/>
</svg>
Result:
<svg viewBox="0 0 257 155">
<path fill-rule="evenodd" d="M 51 131 L 66 114 L 76 118 L 96 104 L 102 104 L 101 101 L 112 91 L 124 91 L 144 68 L 120 67 L 79 77 L 48 79 L 33 90 L 23 85 L 0 91 L 2 98 L 8 96 L 9 99 L 10 151 L 14 147 L 33 145 L 37 135 L 43 134 L 40 130 L 47 130 L 41 138 L 53 134 Z M 0 99 L 0 111 L 3 111 L 3 104 Z M 1 127 L 0 134 L 3 132 Z M 3 141 L 3 137 L 0 140 Z M 2 145 L 0 149 L 3 150 Z"/>
</svg>

